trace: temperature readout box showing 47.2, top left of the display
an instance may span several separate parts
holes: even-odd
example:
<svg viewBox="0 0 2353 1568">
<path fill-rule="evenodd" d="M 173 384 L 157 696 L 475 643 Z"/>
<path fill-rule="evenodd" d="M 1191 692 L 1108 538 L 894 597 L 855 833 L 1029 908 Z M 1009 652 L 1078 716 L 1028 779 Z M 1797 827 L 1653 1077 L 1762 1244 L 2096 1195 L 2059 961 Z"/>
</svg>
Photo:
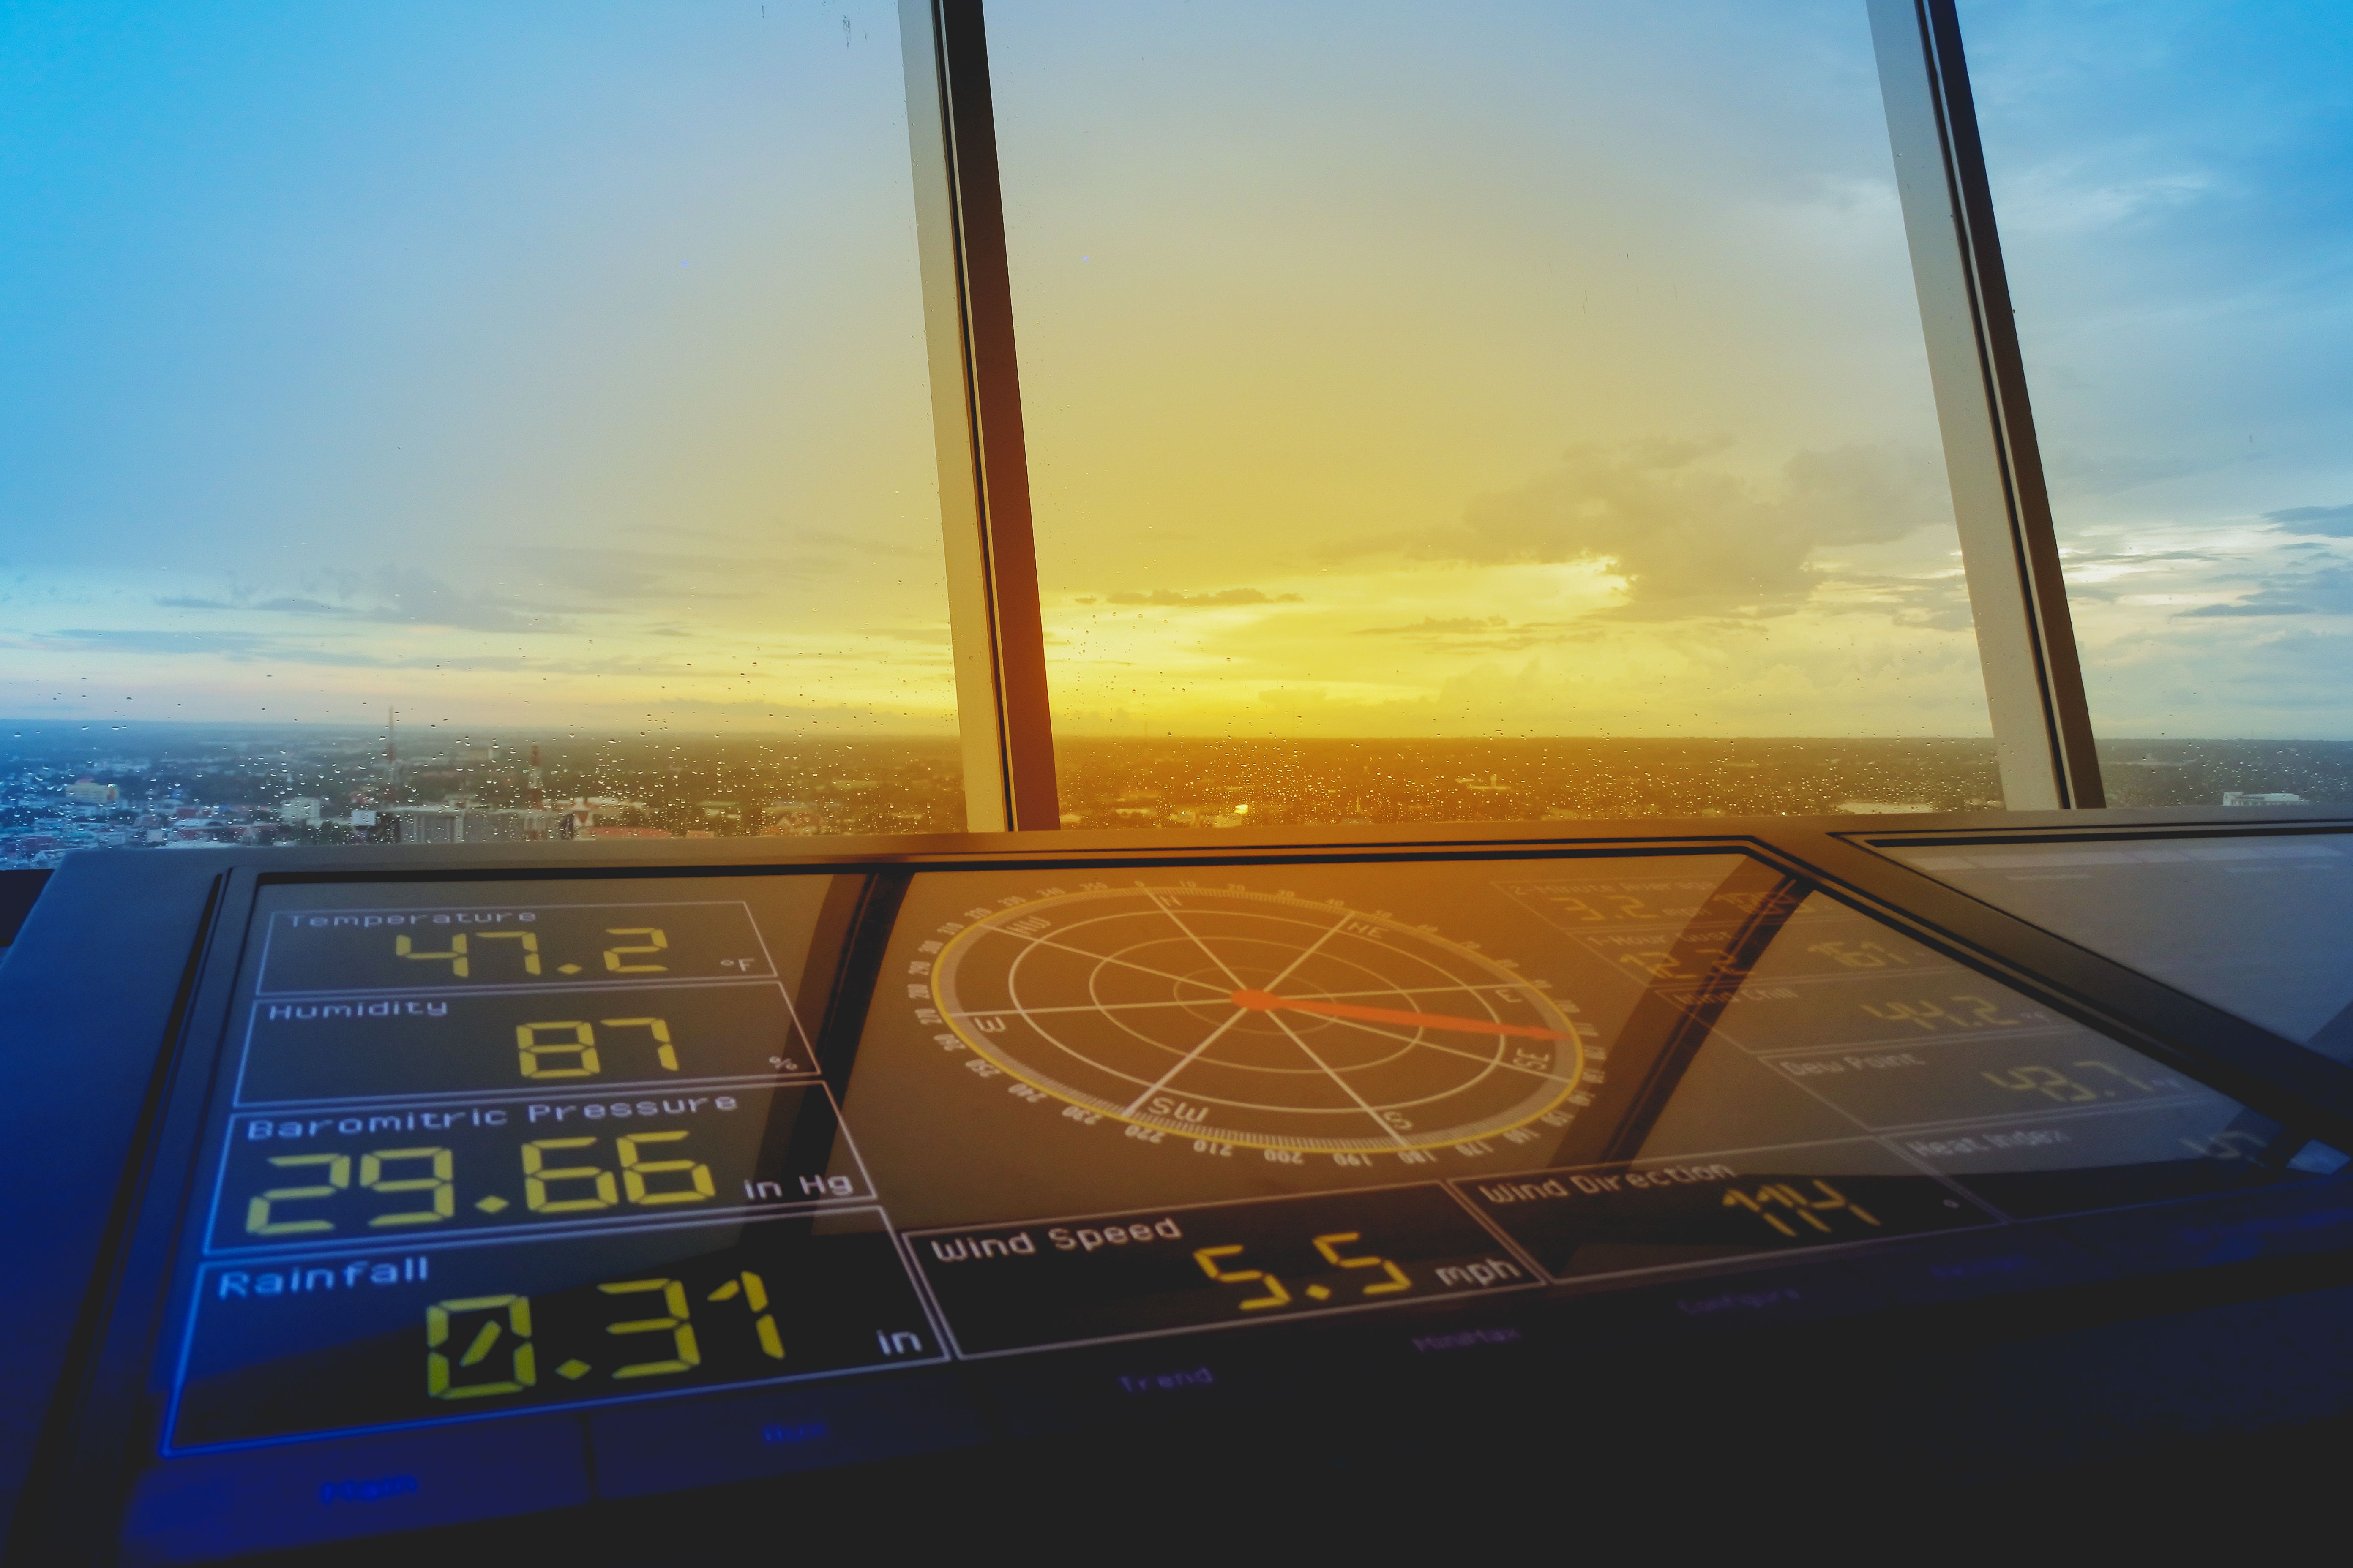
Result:
<svg viewBox="0 0 2353 1568">
<path fill-rule="evenodd" d="M 261 994 L 774 976 L 739 900 L 280 910 Z"/>
</svg>

